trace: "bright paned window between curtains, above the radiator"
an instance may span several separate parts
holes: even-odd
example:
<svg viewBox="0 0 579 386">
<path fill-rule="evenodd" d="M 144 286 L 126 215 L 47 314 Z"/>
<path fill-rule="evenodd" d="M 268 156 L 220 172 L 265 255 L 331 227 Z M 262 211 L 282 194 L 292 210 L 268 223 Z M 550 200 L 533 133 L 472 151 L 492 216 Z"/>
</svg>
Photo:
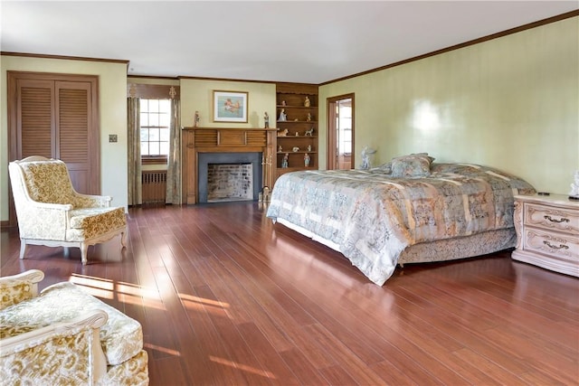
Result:
<svg viewBox="0 0 579 386">
<path fill-rule="evenodd" d="M 169 154 L 171 99 L 140 99 L 141 158 L 164 160 Z"/>
</svg>

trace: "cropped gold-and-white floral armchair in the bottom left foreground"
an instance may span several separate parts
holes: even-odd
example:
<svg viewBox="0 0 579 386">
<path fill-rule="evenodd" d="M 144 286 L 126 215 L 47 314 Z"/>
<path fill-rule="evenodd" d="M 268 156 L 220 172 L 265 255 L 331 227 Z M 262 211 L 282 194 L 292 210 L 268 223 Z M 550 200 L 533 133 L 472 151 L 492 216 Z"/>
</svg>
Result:
<svg viewBox="0 0 579 386">
<path fill-rule="evenodd" d="M 147 385 L 141 325 L 40 270 L 0 278 L 0 383 Z"/>
</svg>

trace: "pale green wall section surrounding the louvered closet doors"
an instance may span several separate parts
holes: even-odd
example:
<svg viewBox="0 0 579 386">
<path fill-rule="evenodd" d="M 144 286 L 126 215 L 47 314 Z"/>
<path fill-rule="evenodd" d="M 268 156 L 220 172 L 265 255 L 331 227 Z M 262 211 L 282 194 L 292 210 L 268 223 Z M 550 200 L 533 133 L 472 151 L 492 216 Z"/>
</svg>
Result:
<svg viewBox="0 0 579 386">
<path fill-rule="evenodd" d="M 58 72 L 99 76 L 100 190 L 112 204 L 128 204 L 127 182 L 127 65 L 106 61 L 0 56 L 0 220 L 8 220 L 8 118 L 6 71 Z M 109 134 L 119 141 L 109 143 Z M 122 165 L 123 167 L 119 167 Z"/>
</svg>

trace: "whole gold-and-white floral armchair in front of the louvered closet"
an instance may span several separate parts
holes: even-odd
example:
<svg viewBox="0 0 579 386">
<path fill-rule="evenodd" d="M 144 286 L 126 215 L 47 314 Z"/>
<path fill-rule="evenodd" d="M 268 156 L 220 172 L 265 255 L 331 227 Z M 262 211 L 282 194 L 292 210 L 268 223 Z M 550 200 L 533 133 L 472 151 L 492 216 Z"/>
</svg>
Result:
<svg viewBox="0 0 579 386">
<path fill-rule="evenodd" d="M 20 231 L 20 259 L 29 244 L 87 249 L 120 235 L 125 247 L 127 219 L 122 207 L 111 207 L 109 196 L 77 193 L 66 165 L 55 159 L 30 156 L 8 165 Z"/>
</svg>

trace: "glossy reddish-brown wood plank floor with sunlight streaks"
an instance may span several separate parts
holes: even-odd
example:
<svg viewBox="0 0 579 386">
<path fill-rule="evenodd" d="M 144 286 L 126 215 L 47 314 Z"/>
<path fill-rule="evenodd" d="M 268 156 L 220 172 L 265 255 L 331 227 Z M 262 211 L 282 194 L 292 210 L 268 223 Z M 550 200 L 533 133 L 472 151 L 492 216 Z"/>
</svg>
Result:
<svg viewBox="0 0 579 386">
<path fill-rule="evenodd" d="M 1 274 L 42 269 L 143 325 L 151 385 L 556 385 L 579 380 L 579 280 L 509 252 L 397 268 L 384 287 L 257 202 L 130 209 L 80 252 L 2 231 Z"/>
</svg>

